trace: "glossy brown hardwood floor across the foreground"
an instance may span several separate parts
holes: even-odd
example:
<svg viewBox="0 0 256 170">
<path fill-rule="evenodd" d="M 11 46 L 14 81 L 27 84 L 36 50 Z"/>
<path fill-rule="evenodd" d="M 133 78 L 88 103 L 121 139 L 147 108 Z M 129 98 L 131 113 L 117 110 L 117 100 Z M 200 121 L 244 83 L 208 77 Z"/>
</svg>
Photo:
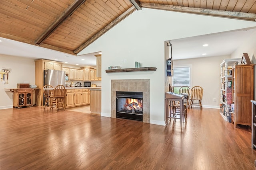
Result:
<svg viewBox="0 0 256 170">
<path fill-rule="evenodd" d="M 168 127 L 43 107 L 0 110 L 0 169 L 253 170 L 247 127 L 188 109 Z"/>
</svg>

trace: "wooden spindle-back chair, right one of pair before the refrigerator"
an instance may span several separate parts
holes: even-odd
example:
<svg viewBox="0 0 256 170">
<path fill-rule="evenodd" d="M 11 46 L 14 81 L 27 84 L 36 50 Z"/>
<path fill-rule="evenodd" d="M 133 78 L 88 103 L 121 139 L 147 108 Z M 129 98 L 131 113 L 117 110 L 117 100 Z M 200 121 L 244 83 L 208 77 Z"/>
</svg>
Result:
<svg viewBox="0 0 256 170">
<path fill-rule="evenodd" d="M 65 90 L 66 88 L 63 85 L 58 85 L 54 88 L 52 95 L 50 96 L 50 110 L 54 107 L 56 108 L 56 111 L 61 108 L 65 110 L 63 103 L 63 99 L 65 97 Z"/>
</svg>

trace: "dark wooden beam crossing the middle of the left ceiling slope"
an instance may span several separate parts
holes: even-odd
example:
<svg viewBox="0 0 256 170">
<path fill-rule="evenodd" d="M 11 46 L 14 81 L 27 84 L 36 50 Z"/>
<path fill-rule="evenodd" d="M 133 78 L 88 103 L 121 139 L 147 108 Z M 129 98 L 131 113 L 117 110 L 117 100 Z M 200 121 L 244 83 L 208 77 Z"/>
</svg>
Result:
<svg viewBox="0 0 256 170">
<path fill-rule="evenodd" d="M 57 29 L 69 16 L 73 14 L 73 12 L 79 8 L 82 4 L 84 4 L 86 0 L 75 0 L 73 4 L 71 4 L 65 12 L 56 20 L 40 37 L 35 41 L 35 44 L 41 44 L 47 37 L 49 37 L 52 32 Z"/>
</svg>

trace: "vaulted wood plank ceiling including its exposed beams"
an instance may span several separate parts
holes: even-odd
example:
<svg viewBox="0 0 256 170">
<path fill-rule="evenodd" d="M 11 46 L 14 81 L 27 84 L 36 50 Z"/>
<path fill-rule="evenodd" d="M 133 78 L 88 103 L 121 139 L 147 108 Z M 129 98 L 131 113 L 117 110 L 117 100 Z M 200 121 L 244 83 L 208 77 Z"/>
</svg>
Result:
<svg viewBox="0 0 256 170">
<path fill-rule="evenodd" d="M 256 0 L 0 0 L 0 37 L 76 55 L 143 8 L 256 19 Z"/>
</svg>

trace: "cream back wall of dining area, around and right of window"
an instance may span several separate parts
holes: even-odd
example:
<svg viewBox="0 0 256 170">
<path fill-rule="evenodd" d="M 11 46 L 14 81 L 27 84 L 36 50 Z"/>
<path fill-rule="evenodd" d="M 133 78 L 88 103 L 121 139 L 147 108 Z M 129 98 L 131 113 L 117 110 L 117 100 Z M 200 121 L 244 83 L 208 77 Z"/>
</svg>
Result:
<svg viewBox="0 0 256 170">
<path fill-rule="evenodd" d="M 174 67 L 190 66 L 191 86 L 204 89 L 203 107 L 220 108 L 220 63 L 230 56 L 174 60 Z M 216 99 L 216 102 L 213 99 Z"/>
</svg>

